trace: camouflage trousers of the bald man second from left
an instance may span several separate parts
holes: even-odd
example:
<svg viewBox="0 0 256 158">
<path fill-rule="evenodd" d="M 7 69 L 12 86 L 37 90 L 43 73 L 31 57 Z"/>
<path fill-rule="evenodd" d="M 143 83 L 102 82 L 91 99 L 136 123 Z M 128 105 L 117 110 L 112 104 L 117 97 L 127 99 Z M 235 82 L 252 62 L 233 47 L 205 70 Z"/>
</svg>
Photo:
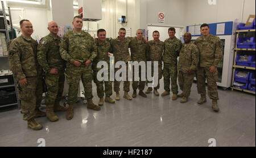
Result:
<svg viewBox="0 0 256 158">
<path fill-rule="evenodd" d="M 53 105 L 55 101 L 60 101 L 61 95 L 63 93 L 65 76 L 63 72 L 55 74 L 46 74 L 46 85 L 47 85 L 47 95 L 46 95 L 46 105 Z"/>
</svg>

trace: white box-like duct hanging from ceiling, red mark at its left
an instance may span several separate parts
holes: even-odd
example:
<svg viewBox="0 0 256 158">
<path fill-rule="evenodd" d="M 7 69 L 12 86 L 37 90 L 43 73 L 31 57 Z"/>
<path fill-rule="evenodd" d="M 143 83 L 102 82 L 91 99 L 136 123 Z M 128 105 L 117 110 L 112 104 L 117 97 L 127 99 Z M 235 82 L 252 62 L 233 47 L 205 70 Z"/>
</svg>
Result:
<svg viewBox="0 0 256 158">
<path fill-rule="evenodd" d="M 79 0 L 79 15 L 82 20 L 89 22 L 97 22 L 102 19 L 101 0 Z"/>
</svg>

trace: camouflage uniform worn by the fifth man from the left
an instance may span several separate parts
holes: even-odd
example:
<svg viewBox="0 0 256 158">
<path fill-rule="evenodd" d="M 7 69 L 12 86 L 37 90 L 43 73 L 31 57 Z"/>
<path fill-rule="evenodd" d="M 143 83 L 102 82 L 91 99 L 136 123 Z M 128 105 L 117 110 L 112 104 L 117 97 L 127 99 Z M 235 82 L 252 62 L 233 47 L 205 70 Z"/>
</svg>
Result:
<svg viewBox="0 0 256 158">
<path fill-rule="evenodd" d="M 119 36 L 118 36 L 119 37 Z M 110 41 L 112 46 L 112 51 L 115 58 L 115 63 L 118 61 L 123 61 L 126 63 L 126 81 L 123 82 L 123 91 L 129 92 L 130 91 L 130 81 L 128 81 L 128 62 L 131 60 L 130 53 L 129 53 L 129 44 L 131 42 L 131 37 L 125 37 L 124 40 L 113 39 Z M 119 68 L 115 68 L 115 72 L 117 72 Z M 114 91 L 120 91 L 120 82 L 115 80 L 114 81 Z"/>
</svg>

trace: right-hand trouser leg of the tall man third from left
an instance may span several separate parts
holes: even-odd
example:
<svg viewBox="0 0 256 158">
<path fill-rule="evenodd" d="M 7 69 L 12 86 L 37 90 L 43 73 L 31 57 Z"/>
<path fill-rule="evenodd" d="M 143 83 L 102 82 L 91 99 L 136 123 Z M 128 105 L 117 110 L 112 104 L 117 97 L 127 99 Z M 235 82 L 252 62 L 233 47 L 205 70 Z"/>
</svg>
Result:
<svg viewBox="0 0 256 158">
<path fill-rule="evenodd" d="M 93 80 L 93 72 L 92 66 L 85 66 L 82 71 L 82 85 L 84 86 L 84 97 L 86 100 L 90 100 L 93 98 L 92 95 L 92 80 Z"/>
</svg>

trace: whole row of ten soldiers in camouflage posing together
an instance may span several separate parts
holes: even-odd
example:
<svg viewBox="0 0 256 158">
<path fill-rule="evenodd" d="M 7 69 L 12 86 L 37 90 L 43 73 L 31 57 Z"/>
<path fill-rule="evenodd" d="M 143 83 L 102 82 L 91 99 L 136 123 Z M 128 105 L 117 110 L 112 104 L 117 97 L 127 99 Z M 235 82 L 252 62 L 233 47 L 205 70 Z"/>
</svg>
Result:
<svg viewBox="0 0 256 158">
<path fill-rule="evenodd" d="M 126 63 L 126 73 L 128 73 L 129 61 L 158 61 L 158 85 L 154 87 L 154 94 L 159 96 L 159 80 L 164 78 L 164 92 L 162 96 L 170 95 L 172 100 L 182 97 L 181 103 L 186 103 L 191 92 L 193 78 L 197 78 L 197 91 L 201 95 L 198 104 L 207 101 L 205 91 L 205 78 L 208 83 L 208 95 L 212 99 L 212 108 L 218 112 L 217 106 L 217 65 L 222 59 L 222 45 L 218 37 L 209 34 L 209 25 L 201 25 L 201 33 L 195 43 L 191 42 L 191 34 L 184 34 L 184 44 L 175 37 L 175 28 L 168 29 L 169 39 L 159 40 L 159 32 L 153 32 L 154 40 L 147 41 L 143 37 L 143 30 L 138 29 L 135 37 L 125 37 L 125 28 L 120 28 L 116 39 L 106 39 L 106 31 L 99 29 L 97 39 L 93 39 L 89 33 L 82 31 L 82 18 L 73 18 L 72 31 L 65 33 L 61 38 L 57 35 L 59 27 L 56 22 L 48 23 L 49 35 L 43 37 L 39 44 L 31 38 L 33 27 L 29 20 L 21 20 L 20 28 L 22 35 L 9 43 L 9 63 L 15 79 L 18 81 L 19 100 L 22 104 L 23 119 L 27 121 L 28 127 L 33 130 L 43 128 L 36 117 L 46 116 L 49 121 L 57 121 L 57 111 L 67 111 L 66 119 L 73 118 L 73 105 L 77 102 L 77 93 L 80 79 L 84 86 L 84 96 L 87 100 L 87 108 L 100 110 L 100 106 L 105 102 L 115 103 L 120 100 L 120 82 L 114 80 L 115 100 L 112 99 L 112 82 L 99 81 L 97 73 L 101 68 L 97 63 L 105 61 L 110 66 L 108 53 L 113 53 L 114 61 Z M 131 54 L 129 53 L 129 48 Z M 177 62 L 177 57 L 179 62 Z M 162 69 L 163 61 L 163 69 Z M 152 65 L 152 68 L 154 66 Z M 117 72 L 120 68 L 115 68 Z M 133 68 L 132 68 L 133 69 Z M 153 70 L 152 70 L 152 75 Z M 45 73 L 47 85 L 46 113 L 39 110 L 42 100 L 42 72 Z M 108 69 L 109 71 L 109 69 Z M 179 75 L 178 75 L 179 71 Z M 133 78 L 133 95 L 129 95 L 130 82 L 127 79 L 123 83 L 123 98 L 132 100 L 138 95 L 147 97 L 151 93 L 152 87 L 148 87 L 144 93 L 144 87 L 149 81 L 141 80 L 142 69 L 133 71 L 139 74 L 139 81 Z M 109 74 L 109 73 L 108 73 Z M 67 79 L 68 107 L 60 105 L 61 95 L 64 88 L 64 80 Z M 171 89 L 170 89 L 171 78 Z M 177 78 L 181 94 L 178 95 Z M 92 101 L 92 80 L 97 86 L 99 97 L 98 105 Z M 104 90 L 105 86 L 105 90 Z"/>
</svg>

